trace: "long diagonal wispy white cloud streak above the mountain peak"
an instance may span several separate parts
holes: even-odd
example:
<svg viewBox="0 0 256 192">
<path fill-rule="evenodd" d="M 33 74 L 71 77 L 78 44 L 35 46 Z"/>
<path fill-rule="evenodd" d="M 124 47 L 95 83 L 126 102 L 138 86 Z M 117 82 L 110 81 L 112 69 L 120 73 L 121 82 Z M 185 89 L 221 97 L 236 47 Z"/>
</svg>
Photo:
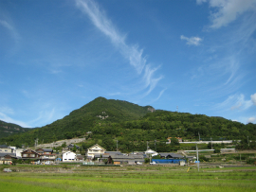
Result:
<svg viewBox="0 0 256 192">
<path fill-rule="evenodd" d="M 146 57 L 143 57 L 143 49 L 139 49 L 137 44 L 127 44 L 125 42 L 125 35 L 119 32 L 118 28 L 107 18 L 95 1 L 76 0 L 76 4 L 83 13 L 88 15 L 93 25 L 101 30 L 110 39 L 112 44 L 118 47 L 119 53 L 136 69 L 137 74 L 143 74 L 141 79 L 143 79 L 145 85 L 144 89 L 145 87 L 148 89 L 144 96 L 148 96 L 155 89 L 158 81 L 163 79 L 163 77 L 155 78 L 157 67 L 152 68 L 147 64 Z"/>
</svg>

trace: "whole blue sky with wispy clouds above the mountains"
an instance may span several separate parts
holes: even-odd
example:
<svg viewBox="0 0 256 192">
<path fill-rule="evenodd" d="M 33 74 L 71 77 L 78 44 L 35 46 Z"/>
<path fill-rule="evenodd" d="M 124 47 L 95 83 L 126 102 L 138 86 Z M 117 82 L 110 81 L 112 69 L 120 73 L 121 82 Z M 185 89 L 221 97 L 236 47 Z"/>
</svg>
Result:
<svg viewBox="0 0 256 192">
<path fill-rule="evenodd" d="M 256 0 L 2 0 L 0 119 L 98 96 L 256 123 Z"/>
</svg>

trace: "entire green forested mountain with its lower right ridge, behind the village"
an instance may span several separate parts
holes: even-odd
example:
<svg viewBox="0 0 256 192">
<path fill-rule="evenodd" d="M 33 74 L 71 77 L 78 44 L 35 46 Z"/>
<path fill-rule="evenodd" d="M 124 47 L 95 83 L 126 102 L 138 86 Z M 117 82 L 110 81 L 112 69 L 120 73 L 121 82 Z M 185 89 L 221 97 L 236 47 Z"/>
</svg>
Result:
<svg viewBox="0 0 256 192">
<path fill-rule="evenodd" d="M 86 134 L 87 131 L 92 133 Z M 204 114 L 176 113 L 154 110 L 151 106 L 140 107 L 136 104 L 98 97 L 43 128 L 33 129 L 19 135 L 3 138 L 1 142 L 11 145 L 33 145 L 34 139 L 39 144 L 64 138 L 85 135 L 89 147 L 99 143 L 108 150 L 119 149 L 133 151 L 145 149 L 147 141 L 154 148 L 165 143 L 167 137 L 198 139 L 243 139 L 249 136 L 256 139 L 256 125 L 244 125 L 222 117 L 210 117 Z M 165 148 L 162 146 L 162 148 Z M 167 148 L 168 149 L 168 148 Z"/>
</svg>

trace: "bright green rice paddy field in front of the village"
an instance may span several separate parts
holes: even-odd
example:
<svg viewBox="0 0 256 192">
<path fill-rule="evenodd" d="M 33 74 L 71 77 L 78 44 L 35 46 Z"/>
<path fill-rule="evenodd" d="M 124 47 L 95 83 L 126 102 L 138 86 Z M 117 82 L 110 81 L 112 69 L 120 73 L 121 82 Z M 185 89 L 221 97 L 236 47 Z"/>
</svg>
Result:
<svg viewBox="0 0 256 192">
<path fill-rule="evenodd" d="M 6 166 L 5 166 L 6 167 Z M 1 170 L 4 166 L 1 167 Z M 9 166 L 0 191 L 256 191 L 256 166 Z"/>
</svg>

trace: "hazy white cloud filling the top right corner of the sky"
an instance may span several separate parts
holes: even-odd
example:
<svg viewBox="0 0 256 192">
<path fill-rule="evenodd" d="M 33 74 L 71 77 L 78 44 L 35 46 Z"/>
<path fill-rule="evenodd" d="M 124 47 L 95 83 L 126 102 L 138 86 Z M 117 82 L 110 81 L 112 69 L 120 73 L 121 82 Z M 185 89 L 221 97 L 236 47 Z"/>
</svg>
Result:
<svg viewBox="0 0 256 192">
<path fill-rule="evenodd" d="M 229 23 L 236 20 L 239 15 L 242 15 L 247 10 L 256 9 L 256 0 L 208 0 L 210 8 L 213 11 L 210 14 L 212 28 L 227 26 Z M 197 4 L 207 2 L 206 0 L 196 0 Z"/>
</svg>

